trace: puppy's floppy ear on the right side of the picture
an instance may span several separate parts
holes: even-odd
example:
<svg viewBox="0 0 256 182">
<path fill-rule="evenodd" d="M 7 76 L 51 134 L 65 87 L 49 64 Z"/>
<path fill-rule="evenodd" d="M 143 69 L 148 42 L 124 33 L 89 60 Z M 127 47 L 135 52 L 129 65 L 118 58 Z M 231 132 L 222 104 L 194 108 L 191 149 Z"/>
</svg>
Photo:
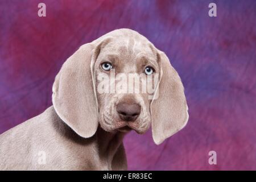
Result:
<svg viewBox="0 0 256 182">
<path fill-rule="evenodd" d="M 188 121 L 183 84 L 165 53 L 158 51 L 160 65 L 159 96 L 151 102 L 152 135 L 156 144 L 181 130 Z"/>
</svg>

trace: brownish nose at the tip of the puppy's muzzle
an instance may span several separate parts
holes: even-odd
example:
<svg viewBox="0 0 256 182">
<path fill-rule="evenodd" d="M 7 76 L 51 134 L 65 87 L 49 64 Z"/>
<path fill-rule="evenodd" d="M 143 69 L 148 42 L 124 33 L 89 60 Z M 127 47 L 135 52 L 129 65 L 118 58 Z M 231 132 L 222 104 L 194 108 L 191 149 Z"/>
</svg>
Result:
<svg viewBox="0 0 256 182">
<path fill-rule="evenodd" d="M 135 121 L 139 114 L 141 114 L 141 106 L 121 102 L 117 105 L 117 112 L 123 121 Z"/>
</svg>

